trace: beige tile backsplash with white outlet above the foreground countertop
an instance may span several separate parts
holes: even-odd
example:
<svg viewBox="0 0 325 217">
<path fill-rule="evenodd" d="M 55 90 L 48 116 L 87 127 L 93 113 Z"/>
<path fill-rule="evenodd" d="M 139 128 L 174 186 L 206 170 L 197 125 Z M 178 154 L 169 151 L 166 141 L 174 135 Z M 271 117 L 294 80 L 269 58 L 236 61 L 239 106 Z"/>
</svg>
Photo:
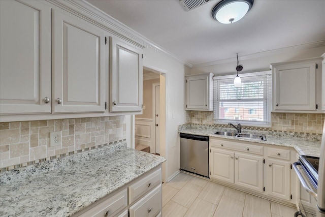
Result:
<svg viewBox="0 0 325 217">
<path fill-rule="evenodd" d="M 62 132 L 61 145 L 50 146 L 50 132 Z M 40 161 L 100 147 L 126 138 L 124 116 L 0 123 L 0 168 Z"/>
</svg>

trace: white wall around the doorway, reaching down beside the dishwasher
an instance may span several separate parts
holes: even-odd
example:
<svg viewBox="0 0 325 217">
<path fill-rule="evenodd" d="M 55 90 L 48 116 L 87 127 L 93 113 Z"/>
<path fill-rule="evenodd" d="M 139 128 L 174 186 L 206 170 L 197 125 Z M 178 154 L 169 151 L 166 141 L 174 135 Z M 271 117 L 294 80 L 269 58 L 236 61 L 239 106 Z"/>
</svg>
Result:
<svg viewBox="0 0 325 217">
<path fill-rule="evenodd" d="M 167 158 L 167 162 L 163 164 L 163 168 L 165 168 L 163 181 L 166 182 L 179 171 L 180 153 L 177 128 L 178 125 L 185 123 L 184 75 L 189 73 L 189 68 L 150 47 L 144 49 L 143 66 L 167 72 L 166 156 L 164 156 Z"/>
</svg>

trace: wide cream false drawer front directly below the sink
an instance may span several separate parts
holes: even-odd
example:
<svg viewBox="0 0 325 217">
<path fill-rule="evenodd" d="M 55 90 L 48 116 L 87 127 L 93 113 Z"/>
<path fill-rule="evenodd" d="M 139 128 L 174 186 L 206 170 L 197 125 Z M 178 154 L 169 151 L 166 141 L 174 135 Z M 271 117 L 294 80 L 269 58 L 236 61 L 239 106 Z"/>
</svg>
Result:
<svg viewBox="0 0 325 217">
<path fill-rule="evenodd" d="M 218 148 L 227 148 L 236 151 L 242 151 L 245 153 L 253 153 L 263 155 L 263 146 L 259 145 L 250 145 L 246 143 L 239 143 L 239 142 L 232 142 L 232 141 L 225 141 L 225 140 L 214 140 L 211 139 L 211 146 L 218 147 Z"/>
</svg>

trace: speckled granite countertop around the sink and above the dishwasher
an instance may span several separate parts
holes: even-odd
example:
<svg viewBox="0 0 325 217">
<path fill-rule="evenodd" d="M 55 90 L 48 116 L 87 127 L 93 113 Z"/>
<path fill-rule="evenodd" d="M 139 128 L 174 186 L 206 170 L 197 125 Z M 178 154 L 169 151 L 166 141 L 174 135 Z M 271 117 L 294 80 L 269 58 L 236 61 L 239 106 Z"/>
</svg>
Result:
<svg viewBox="0 0 325 217">
<path fill-rule="evenodd" d="M 242 130 L 242 133 L 251 133 L 257 135 L 266 135 L 266 141 L 255 140 L 248 138 L 240 138 L 234 136 L 222 136 L 213 134 L 216 131 L 234 131 L 235 129 L 231 128 L 212 128 L 206 126 L 195 126 L 191 125 L 181 126 L 178 129 L 179 133 L 187 133 L 194 135 L 202 135 L 209 137 L 225 138 L 232 140 L 241 140 L 256 142 L 268 145 L 277 145 L 277 146 L 286 146 L 295 148 L 300 155 L 309 155 L 319 157 L 320 153 L 320 143 L 321 135 L 306 135 L 306 134 L 297 134 L 297 133 L 284 133 L 284 132 L 270 132 L 270 131 L 251 131 L 251 130 Z"/>
</svg>

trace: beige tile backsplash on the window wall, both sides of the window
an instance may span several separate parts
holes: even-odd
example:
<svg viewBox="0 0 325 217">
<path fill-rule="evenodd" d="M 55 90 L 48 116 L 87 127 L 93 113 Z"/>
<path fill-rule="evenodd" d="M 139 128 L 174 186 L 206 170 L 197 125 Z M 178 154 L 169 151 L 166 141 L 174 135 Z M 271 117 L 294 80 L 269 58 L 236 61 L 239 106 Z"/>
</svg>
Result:
<svg viewBox="0 0 325 217">
<path fill-rule="evenodd" d="M 258 127 L 256 129 L 322 134 L 324 119 L 325 114 L 272 113 L 272 127 Z M 291 126 L 287 125 L 288 121 L 291 122 Z M 186 111 L 186 123 L 215 125 L 213 123 L 213 111 Z M 253 129 L 253 127 L 243 126 L 243 129 Z"/>
</svg>

